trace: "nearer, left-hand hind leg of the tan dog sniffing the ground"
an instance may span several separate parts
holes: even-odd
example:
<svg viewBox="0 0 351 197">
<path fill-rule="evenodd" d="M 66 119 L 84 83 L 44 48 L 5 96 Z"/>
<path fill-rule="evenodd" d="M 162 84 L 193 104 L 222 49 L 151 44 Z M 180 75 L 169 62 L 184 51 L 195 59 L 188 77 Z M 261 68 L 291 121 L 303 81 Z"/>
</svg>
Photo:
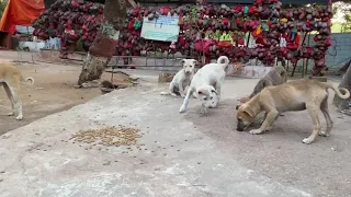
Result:
<svg viewBox="0 0 351 197">
<path fill-rule="evenodd" d="M 303 140 L 304 143 L 309 144 L 314 142 L 315 139 L 318 137 L 318 134 L 320 132 L 320 123 L 318 117 L 318 111 L 320 109 L 319 107 L 320 107 L 320 103 L 316 103 L 316 102 L 306 103 L 306 108 L 312 118 L 314 129 L 310 136 Z"/>
</svg>

